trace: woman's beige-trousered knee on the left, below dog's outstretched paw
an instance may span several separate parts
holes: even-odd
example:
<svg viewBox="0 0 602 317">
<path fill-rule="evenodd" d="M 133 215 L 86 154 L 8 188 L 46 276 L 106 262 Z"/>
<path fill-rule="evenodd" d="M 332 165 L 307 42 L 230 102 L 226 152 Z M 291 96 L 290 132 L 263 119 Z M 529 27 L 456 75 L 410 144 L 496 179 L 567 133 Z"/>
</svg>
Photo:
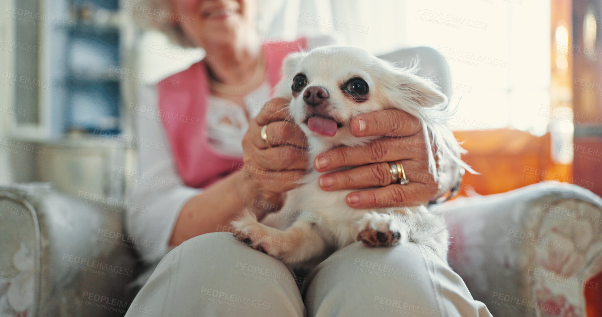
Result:
<svg viewBox="0 0 602 317">
<path fill-rule="evenodd" d="M 288 268 L 229 233 L 208 233 L 176 247 L 139 295 L 138 301 L 162 298 L 165 307 L 159 311 L 165 316 L 241 311 L 246 316 L 301 316 L 304 309 Z"/>
</svg>

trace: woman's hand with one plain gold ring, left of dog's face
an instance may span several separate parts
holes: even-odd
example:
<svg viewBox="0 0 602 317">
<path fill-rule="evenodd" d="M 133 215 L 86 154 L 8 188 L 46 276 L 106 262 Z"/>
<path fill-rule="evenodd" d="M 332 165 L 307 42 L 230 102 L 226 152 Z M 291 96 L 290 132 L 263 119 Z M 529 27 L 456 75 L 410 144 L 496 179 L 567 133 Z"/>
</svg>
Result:
<svg viewBox="0 0 602 317">
<path fill-rule="evenodd" d="M 282 98 L 267 102 L 243 137 L 240 191 L 258 219 L 282 207 L 284 193 L 301 185 L 308 166 L 305 134 L 292 122 L 288 103 Z M 261 138 L 265 125 L 268 144 Z"/>
</svg>

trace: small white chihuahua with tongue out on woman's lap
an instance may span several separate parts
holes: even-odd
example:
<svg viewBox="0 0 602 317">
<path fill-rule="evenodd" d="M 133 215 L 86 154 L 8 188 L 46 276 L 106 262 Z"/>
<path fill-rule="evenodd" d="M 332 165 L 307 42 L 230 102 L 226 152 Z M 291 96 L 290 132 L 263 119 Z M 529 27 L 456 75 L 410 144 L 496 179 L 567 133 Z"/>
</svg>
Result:
<svg viewBox="0 0 602 317">
<path fill-rule="evenodd" d="M 420 119 L 435 180 L 439 172 L 435 157 L 465 165 L 459 160 L 461 147 L 441 120 L 447 113 L 447 97 L 432 82 L 414 75 L 415 67 L 400 69 L 359 48 L 325 46 L 290 55 L 283 70 L 278 96 L 291 100 L 288 111 L 307 135 L 309 162 L 325 150 L 375 140 L 378 137 L 353 137 L 350 120 L 396 108 Z M 297 217 L 282 231 L 258 223 L 246 212 L 232 222 L 234 236 L 287 264 L 324 259 L 355 241 L 370 246 L 415 242 L 447 259 L 448 233 L 441 215 L 425 206 L 350 208 L 345 197 L 352 190 L 323 191 L 318 186 L 320 174 L 310 164 L 303 185 L 288 192 L 284 207 L 317 217 Z"/>
</svg>

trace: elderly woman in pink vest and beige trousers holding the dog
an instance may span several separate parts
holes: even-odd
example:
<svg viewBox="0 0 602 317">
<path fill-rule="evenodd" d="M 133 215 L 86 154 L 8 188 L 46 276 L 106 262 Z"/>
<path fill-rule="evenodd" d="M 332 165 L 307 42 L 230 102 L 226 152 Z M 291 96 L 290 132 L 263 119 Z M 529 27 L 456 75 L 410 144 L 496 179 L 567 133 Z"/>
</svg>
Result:
<svg viewBox="0 0 602 317">
<path fill-rule="evenodd" d="M 138 149 L 137 172 L 151 182 L 134 186 L 131 202 L 146 208 L 130 211 L 127 224 L 146 262 L 163 259 L 126 316 L 149 310 L 159 316 L 489 316 L 445 260 L 415 244 L 366 248 L 358 242 L 302 276 L 234 239 L 232 220 L 248 209 L 269 223 L 309 165 L 303 133 L 283 111 L 288 100 L 265 101 L 288 52 L 317 43 L 261 43 L 253 0 L 144 5 L 150 10 L 143 12 L 169 13 L 155 24 L 181 45 L 203 48 L 208 58 L 140 91 L 140 105 L 155 117 L 138 116 L 138 137 L 158 146 Z M 387 58 L 416 54 L 421 51 Z M 423 70 L 447 76 L 441 63 L 435 58 Z M 353 118 L 349 129 L 358 137 L 404 138 L 321 153 L 312 162 L 318 171 L 352 167 L 324 173 L 321 188 L 358 189 L 346 197 L 353 208 L 417 205 L 444 195 L 458 167 L 439 162 L 443 177 L 434 182 L 426 150 L 397 144 L 424 147 L 417 123 L 398 110 Z M 409 171 L 407 185 L 391 183 L 387 162 L 398 160 Z M 175 248 L 165 255 L 167 245 Z"/>
</svg>

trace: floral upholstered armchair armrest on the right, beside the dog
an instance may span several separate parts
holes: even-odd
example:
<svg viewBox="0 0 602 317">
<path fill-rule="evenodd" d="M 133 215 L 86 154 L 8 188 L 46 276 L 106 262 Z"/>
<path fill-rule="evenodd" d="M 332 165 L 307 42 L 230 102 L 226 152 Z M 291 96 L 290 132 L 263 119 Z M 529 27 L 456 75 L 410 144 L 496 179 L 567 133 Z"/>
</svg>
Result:
<svg viewBox="0 0 602 317">
<path fill-rule="evenodd" d="M 440 207 L 448 260 L 497 316 L 586 316 L 600 298 L 602 200 L 579 186 L 539 183 Z M 573 314 L 571 314 L 573 313 Z"/>
</svg>

